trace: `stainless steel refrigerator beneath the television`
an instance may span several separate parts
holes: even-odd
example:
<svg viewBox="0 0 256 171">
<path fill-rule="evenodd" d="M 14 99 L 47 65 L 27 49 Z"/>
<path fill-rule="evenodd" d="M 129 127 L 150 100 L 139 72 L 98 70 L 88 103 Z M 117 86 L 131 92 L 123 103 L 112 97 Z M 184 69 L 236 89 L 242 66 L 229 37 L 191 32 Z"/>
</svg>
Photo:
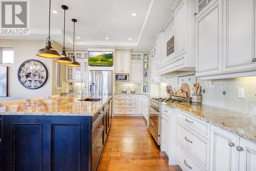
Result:
<svg viewBox="0 0 256 171">
<path fill-rule="evenodd" d="M 89 95 L 112 95 L 113 71 L 89 71 Z"/>
</svg>

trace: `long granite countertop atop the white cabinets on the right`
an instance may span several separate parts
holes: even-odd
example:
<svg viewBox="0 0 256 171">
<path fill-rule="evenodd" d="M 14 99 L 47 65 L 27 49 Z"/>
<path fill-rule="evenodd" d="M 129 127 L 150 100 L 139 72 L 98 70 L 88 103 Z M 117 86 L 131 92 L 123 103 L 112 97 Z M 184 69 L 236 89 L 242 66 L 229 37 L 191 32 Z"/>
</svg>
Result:
<svg viewBox="0 0 256 171">
<path fill-rule="evenodd" d="M 243 114 L 214 106 L 191 103 L 162 102 L 170 108 L 179 109 L 212 125 L 256 143 L 256 113 Z"/>
</svg>

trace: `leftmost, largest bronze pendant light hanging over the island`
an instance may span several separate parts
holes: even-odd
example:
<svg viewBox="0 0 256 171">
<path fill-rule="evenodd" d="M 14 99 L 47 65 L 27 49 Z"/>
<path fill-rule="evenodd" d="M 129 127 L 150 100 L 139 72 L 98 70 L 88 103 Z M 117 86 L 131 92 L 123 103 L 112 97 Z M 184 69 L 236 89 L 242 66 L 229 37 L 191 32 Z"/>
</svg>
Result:
<svg viewBox="0 0 256 171">
<path fill-rule="evenodd" d="M 40 57 L 46 57 L 46 58 L 58 58 L 59 53 L 58 51 L 54 50 L 52 48 L 52 43 L 51 43 L 51 37 L 50 37 L 50 25 L 51 25 L 51 0 L 50 0 L 50 6 L 49 6 L 49 36 L 46 39 L 46 44 L 47 46 L 44 49 L 40 49 L 37 52 L 37 56 Z"/>
</svg>

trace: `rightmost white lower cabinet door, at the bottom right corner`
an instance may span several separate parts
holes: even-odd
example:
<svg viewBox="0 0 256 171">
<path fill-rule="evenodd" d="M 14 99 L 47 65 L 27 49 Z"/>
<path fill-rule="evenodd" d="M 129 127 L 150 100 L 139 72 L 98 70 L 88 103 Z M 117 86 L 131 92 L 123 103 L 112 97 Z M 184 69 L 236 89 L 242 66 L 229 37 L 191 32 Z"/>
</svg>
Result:
<svg viewBox="0 0 256 171">
<path fill-rule="evenodd" d="M 239 147 L 239 171 L 256 170 L 256 144 L 240 138 Z"/>
</svg>

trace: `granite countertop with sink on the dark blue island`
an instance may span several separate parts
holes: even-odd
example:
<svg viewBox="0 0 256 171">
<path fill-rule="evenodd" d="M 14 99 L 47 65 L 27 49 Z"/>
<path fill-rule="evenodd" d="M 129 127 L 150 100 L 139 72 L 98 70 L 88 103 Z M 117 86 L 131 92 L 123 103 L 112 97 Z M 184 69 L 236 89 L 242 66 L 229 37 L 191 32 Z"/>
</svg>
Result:
<svg viewBox="0 0 256 171">
<path fill-rule="evenodd" d="M 87 98 L 89 96 L 84 96 Z M 80 96 L 61 96 L 57 99 L 44 99 L 25 104 L 3 106 L 0 115 L 60 115 L 93 116 L 112 96 L 90 96 L 102 98 L 100 101 L 77 101 Z"/>
</svg>

